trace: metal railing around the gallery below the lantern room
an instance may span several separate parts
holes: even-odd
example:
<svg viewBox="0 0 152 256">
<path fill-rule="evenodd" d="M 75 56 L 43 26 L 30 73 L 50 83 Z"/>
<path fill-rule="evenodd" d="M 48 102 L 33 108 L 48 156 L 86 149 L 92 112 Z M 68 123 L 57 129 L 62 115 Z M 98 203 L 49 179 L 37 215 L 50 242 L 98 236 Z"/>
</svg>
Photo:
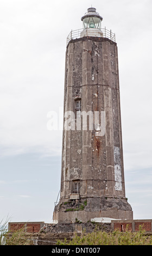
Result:
<svg viewBox="0 0 152 256">
<path fill-rule="evenodd" d="M 89 29 L 89 28 L 88 28 Z M 71 31 L 68 36 L 67 36 L 67 44 L 70 40 L 72 39 L 77 39 L 77 38 L 80 38 L 81 37 L 81 32 L 83 31 L 84 29 L 83 28 L 80 28 L 80 29 L 77 29 L 77 30 L 74 30 L 74 31 Z M 85 29 L 87 31 L 87 28 Z M 100 32 L 103 33 L 103 37 L 104 38 L 108 38 L 110 40 L 112 40 L 113 42 L 116 42 L 116 37 L 115 37 L 115 33 L 112 33 L 111 30 L 109 31 L 108 29 L 105 28 L 101 28 L 99 29 Z M 97 36 L 96 35 L 96 32 L 93 33 L 91 32 L 91 36 Z"/>
</svg>

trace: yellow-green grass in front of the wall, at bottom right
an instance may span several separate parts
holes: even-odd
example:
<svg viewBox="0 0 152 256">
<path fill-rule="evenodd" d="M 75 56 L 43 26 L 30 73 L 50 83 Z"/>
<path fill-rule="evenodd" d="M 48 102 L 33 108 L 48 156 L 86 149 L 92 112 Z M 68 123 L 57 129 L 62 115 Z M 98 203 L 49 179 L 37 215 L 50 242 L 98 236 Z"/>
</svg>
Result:
<svg viewBox="0 0 152 256">
<path fill-rule="evenodd" d="M 78 235 L 75 233 L 71 241 L 65 239 L 64 242 L 58 241 L 58 245 L 152 245 L 152 235 L 145 235 L 145 231 L 140 230 L 131 232 L 126 230 L 121 232 L 115 230 L 111 233 L 94 230 L 92 233 L 85 231 Z"/>
</svg>

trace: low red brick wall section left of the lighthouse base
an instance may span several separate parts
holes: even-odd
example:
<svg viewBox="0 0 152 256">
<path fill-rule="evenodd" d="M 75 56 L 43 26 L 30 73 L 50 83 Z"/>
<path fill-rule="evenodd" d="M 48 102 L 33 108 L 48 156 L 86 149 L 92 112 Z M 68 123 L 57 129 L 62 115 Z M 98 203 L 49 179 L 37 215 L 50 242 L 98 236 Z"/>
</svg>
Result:
<svg viewBox="0 0 152 256">
<path fill-rule="evenodd" d="M 14 232 L 23 228 L 26 232 L 39 232 L 45 222 L 9 222 L 8 231 Z"/>
</svg>

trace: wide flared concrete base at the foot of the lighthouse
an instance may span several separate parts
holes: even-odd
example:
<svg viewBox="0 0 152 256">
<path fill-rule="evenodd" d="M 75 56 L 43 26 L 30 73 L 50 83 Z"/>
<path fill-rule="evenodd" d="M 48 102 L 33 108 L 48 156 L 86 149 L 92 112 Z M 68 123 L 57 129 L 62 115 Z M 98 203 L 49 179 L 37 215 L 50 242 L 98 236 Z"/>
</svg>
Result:
<svg viewBox="0 0 152 256">
<path fill-rule="evenodd" d="M 53 213 L 56 223 L 87 222 L 105 217 L 133 220 L 133 212 L 126 199 L 101 197 L 59 202 Z"/>
</svg>

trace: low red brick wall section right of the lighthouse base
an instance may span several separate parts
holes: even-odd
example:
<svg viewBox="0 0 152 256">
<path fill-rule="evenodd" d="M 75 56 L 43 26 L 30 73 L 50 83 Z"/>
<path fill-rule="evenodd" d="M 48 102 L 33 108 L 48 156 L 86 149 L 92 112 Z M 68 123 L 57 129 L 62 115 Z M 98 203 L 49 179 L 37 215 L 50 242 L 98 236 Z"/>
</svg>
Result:
<svg viewBox="0 0 152 256">
<path fill-rule="evenodd" d="M 152 231 L 152 220 L 119 220 L 111 221 L 112 231 L 118 229 L 119 231 L 126 231 L 126 227 L 130 231 L 140 230 L 140 225 L 145 231 Z"/>
</svg>

